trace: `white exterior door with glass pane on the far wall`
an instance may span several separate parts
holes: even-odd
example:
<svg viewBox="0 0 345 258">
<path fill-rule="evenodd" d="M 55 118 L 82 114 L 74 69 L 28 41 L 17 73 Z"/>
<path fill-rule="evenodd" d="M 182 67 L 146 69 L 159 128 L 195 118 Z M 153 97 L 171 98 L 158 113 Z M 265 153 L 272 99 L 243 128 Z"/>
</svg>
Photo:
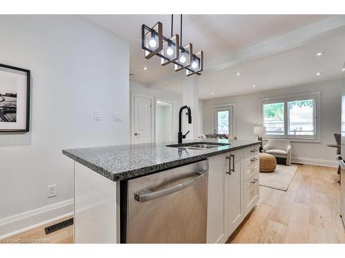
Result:
<svg viewBox="0 0 345 258">
<path fill-rule="evenodd" d="M 234 134 L 234 109 L 233 106 L 214 107 L 214 129 L 215 133 Z"/>
</svg>

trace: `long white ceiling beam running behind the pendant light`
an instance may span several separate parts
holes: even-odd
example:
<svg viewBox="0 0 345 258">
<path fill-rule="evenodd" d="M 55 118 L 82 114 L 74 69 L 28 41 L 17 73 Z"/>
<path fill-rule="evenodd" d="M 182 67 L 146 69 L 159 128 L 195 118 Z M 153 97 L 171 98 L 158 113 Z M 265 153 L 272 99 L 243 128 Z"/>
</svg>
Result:
<svg viewBox="0 0 345 258">
<path fill-rule="evenodd" d="M 239 63 L 255 60 L 264 56 L 270 56 L 272 54 L 277 54 L 279 52 L 312 43 L 324 36 L 330 36 L 344 31 L 345 16 L 335 15 L 317 23 L 299 28 L 298 30 L 294 30 L 293 32 L 289 32 L 287 34 L 277 36 L 273 39 L 262 41 L 261 43 L 246 47 L 243 50 L 239 50 L 232 54 L 221 56 L 220 58 L 215 58 L 211 61 L 207 61 L 206 53 L 204 71 L 213 72 L 219 71 L 221 69 L 227 69 Z M 156 80 L 153 83 L 149 83 L 148 87 L 160 88 L 164 85 L 172 83 L 174 80 L 181 80 L 181 76 L 184 75 L 181 73 L 171 74 L 169 76 Z"/>
</svg>

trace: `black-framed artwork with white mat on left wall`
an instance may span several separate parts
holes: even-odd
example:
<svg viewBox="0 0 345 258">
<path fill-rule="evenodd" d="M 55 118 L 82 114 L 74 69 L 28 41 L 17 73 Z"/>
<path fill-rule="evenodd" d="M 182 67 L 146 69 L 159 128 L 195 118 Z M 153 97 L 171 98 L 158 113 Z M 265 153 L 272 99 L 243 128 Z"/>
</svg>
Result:
<svg viewBox="0 0 345 258">
<path fill-rule="evenodd" d="M 30 70 L 0 64 L 0 132 L 29 127 Z"/>
</svg>

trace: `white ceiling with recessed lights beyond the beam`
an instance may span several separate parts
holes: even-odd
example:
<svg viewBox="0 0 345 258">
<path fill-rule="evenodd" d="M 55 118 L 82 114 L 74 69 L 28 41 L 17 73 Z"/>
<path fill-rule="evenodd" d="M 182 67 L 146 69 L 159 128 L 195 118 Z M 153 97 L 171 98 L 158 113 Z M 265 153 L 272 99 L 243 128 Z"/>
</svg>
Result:
<svg viewBox="0 0 345 258">
<path fill-rule="evenodd" d="M 278 54 L 199 76 L 199 98 L 219 98 L 342 78 L 345 32 Z M 317 52 L 324 52 L 315 56 Z M 237 73 L 241 73 L 237 76 Z M 322 74 L 316 76 L 317 72 Z M 256 85 L 256 87 L 253 87 Z M 182 80 L 163 86 L 183 92 Z M 212 95 L 213 93 L 213 95 Z"/>
</svg>

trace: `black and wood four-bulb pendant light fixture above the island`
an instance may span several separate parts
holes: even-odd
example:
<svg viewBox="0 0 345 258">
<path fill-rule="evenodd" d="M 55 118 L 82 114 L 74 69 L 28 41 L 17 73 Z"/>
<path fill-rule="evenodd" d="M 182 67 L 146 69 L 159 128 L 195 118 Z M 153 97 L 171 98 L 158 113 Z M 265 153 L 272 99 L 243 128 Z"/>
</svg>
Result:
<svg viewBox="0 0 345 258">
<path fill-rule="evenodd" d="M 157 22 L 152 28 L 141 25 L 141 48 L 145 58 L 152 56 L 161 58 L 161 65 L 175 64 L 175 71 L 186 69 L 186 75 L 200 75 L 204 69 L 204 52 L 201 50 L 193 54 L 193 44 L 182 46 L 182 14 L 180 19 L 180 33 L 172 36 L 174 16 L 171 15 L 170 38 L 163 36 L 163 25 Z"/>
</svg>

